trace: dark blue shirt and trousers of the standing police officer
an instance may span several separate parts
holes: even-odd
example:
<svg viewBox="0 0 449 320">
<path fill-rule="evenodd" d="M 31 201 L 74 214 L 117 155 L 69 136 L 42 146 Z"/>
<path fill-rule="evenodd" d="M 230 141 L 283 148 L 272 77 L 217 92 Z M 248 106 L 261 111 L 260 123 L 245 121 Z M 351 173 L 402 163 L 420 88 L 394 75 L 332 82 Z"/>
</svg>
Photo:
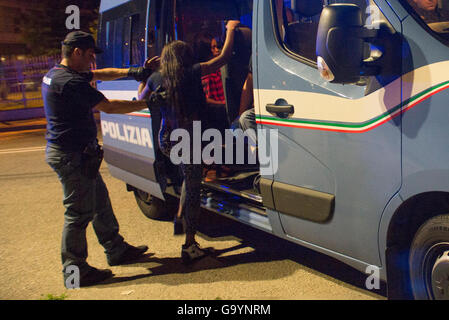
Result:
<svg viewBox="0 0 449 320">
<path fill-rule="evenodd" d="M 96 170 L 86 174 L 86 146 L 96 147 L 97 128 L 92 108 L 104 99 L 89 82 L 93 74 L 78 73 L 57 65 L 43 78 L 42 97 L 47 118 L 46 161 L 63 187 L 64 229 L 62 263 L 79 267 L 81 277 L 87 264 L 86 227 L 92 221 L 108 260 L 119 257 L 129 246 L 119 234 L 108 190 Z"/>
</svg>

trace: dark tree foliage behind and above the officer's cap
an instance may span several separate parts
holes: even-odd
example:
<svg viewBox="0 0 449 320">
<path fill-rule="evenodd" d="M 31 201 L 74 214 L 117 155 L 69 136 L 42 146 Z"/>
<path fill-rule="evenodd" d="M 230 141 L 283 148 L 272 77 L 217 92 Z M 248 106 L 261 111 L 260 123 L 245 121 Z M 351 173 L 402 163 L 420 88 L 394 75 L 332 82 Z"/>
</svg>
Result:
<svg viewBox="0 0 449 320">
<path fill-rule="evenodd" d="M 66 28 L 66 8 L 80 9 L 80 30 L 95 35 L 98 25 L 100 0 L 39 0 L 34 8 L 23 12 L 22 37 L 32 56 L 53 55 L 61 51 L 61 41 L 70 31 Z"/>
</svg>

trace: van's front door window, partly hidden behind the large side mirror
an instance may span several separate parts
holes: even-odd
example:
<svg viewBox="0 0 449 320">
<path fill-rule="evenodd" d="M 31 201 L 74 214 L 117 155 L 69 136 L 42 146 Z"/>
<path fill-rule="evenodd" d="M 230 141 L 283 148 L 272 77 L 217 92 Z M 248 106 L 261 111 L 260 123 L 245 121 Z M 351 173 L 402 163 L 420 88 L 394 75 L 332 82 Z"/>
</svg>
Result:
<svg viewBox="0 0 449 320">
<path fill-rule="evenodd" d="M 316 64 L 316 36 L 325 4 L 353 3 L 366 12 L 369 0 L 302 0 L 300 13 L 294 13 L 291 0 L 272 0 L 273 21 L 279 43 L 288 52 Z"/>
</svg>

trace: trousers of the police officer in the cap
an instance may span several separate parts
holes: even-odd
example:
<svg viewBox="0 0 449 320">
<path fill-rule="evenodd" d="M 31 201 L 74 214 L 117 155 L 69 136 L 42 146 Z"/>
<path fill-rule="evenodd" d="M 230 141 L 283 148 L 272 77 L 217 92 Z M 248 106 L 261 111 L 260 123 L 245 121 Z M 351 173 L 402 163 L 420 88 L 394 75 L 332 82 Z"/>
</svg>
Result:
<svg viewBox="0 0 449 320">
<path fill-rule="evenodd" d="M 92 221 L 98 241 L 108 258 L 119 257 L 127 244 L 119 234 L 119 225 L 100 173 L 93 179 L 83 173 L 82 153 L 66 152 L 48 145 L 46 161 L 62 184 L 66 209 L 61 246 L 63 273 L 66 275 L 66 268 L 74 265 L 83 276 L 91 268 L 86 262 L 86 228 L 89 222 Z"/>
</svg>

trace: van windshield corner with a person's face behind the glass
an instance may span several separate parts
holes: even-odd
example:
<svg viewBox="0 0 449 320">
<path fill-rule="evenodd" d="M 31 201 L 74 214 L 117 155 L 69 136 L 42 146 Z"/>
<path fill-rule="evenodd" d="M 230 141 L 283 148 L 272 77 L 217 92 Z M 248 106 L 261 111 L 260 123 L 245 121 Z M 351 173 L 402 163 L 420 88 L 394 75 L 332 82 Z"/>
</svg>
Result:
<svg viewBox="0 0 449 320">
<path fill-rule="evenodd" d="M 449 41 L 449 0 L 406 0 L 427 26 Z"/>
</svg>

